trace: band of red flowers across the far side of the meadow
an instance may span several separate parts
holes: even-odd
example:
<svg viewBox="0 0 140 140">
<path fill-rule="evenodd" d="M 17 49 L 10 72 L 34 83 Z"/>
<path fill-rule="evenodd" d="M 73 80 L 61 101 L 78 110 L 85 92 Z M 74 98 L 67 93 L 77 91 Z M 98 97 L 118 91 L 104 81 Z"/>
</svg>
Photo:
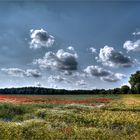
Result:
<svg viewBox="0 0 140 140">
<path fill-rule="evenodd" d="M 0 95 L 0 102 L 14 104 L 93 104 L 108 103 L 117 98 L 114 95 Z"/>
</svg>

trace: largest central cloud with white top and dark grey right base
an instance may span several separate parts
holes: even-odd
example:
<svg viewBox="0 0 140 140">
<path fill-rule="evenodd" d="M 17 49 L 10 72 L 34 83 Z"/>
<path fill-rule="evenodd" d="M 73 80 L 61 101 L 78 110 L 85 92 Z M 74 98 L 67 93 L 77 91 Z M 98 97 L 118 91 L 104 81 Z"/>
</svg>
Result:
<svg viewBox="0 0 140 140">
<path fill-rule="evenodd" d="M 60 49 L 56 53 L 47 52 L 42 59 L 36 59 L 33 63 L 38 64 L 40 68 L 77 70 L 77 58 L 76 53 L 69 53 Z"/>
</svg>

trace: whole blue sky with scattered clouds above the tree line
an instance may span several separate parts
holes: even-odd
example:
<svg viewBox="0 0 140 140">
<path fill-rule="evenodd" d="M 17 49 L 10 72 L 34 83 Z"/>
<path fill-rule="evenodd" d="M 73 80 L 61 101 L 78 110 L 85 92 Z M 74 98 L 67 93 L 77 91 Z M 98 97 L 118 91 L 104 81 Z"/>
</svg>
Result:
<svg viewBox="0 0 140 140">
<path fill-rule="evenodd" d="M 0 87 L 109 89 L 140 69 L 138 1 L 0 1 Z"/>
</svg>

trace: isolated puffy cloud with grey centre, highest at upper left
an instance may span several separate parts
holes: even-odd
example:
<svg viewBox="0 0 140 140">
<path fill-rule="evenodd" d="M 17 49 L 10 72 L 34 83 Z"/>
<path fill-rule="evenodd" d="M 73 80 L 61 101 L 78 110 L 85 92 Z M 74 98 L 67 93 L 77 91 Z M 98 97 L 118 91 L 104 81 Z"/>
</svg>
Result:
<svg viewBox="0 0 140 140">
<path fill-rule="evenodd" d="M 51 47 L 54 43 L 54 37 L 49 35 L 44 29 L 40 30 L 30 30 L 31 42 L 30 48 L 38 49 L 41 47 Z"/>
</svg>

